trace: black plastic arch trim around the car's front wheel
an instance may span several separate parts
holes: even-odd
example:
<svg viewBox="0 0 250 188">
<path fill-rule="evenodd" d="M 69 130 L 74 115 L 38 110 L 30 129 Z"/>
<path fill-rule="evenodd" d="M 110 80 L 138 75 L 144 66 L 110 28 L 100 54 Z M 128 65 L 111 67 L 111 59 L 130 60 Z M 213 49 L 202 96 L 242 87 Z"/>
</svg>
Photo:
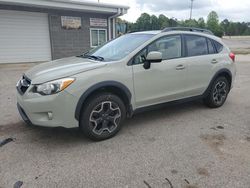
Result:
<svg viewBox="0 0 250 188">
<path fill-rule="evenodd" d="M 91 87 L 89 87 L 80 97 L 80 99 L 78 100 L 77 106 L 76 106 L 76 110 L 75 110 L 75 118 L 76 120 L 79 121 L 80 119 L 80 114 L 81 114 L 81 110 L 82 110 L 82 106 L 84 104 L 84 102 L 86 101 L 87 97 L 89 97 L 89 95 L 95 91 L 97 91 L 98 89 L 104 88 L 104 87 L 116 87 L 118 89 L 120 89 L 121 91 L 124 92 L 125 96 L 127 97 L 128 101 L 129 101 L 129 114 L 132 113 L 132 107 L 131 107 L 131 92 L 130 90 L 127 88 L 127 86 L 125 86 L 124 84 L 117 82 L 117 81 L 103 81 L 100 83 L 97 83 Z M 125 104 L 126 106 L 126 104 Z"/>
</svg>

